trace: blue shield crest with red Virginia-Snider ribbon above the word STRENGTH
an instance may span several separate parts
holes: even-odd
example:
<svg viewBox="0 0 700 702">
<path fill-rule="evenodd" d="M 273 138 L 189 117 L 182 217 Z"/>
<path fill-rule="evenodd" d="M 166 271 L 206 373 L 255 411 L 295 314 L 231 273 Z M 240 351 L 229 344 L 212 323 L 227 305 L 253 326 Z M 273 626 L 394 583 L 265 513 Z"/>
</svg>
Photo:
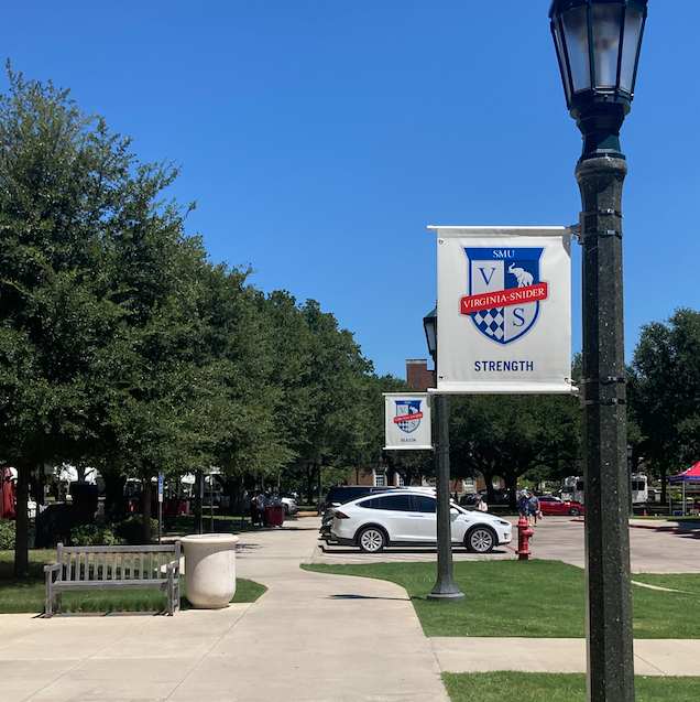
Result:
<svg viewBox="0 0 700 702">
<path fill-rule="evenodd" d="M 544 248 L 466 248 L 469 294 L 460 300 L 460 314 L 486 338 L 512 344 L 533 328 L 547 283 L 539 277 Z"/>
</svg>

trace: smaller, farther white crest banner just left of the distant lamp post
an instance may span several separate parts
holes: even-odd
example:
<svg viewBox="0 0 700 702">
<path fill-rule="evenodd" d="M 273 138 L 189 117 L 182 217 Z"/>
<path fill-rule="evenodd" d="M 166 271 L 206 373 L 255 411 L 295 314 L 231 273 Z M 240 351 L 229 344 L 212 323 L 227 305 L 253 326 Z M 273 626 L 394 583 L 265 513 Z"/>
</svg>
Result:
<svg viewBox="0 0 700 702">
<path fill-rule="evenodd" d="M 429 402 L 427 392 L 384 392 L 384 450 L 433 449 Z"/>
</svg>

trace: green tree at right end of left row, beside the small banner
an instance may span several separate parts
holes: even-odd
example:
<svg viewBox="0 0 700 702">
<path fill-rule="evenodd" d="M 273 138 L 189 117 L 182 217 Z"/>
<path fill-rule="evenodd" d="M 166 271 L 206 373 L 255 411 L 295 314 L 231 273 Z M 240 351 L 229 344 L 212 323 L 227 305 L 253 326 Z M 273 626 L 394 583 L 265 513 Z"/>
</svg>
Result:
<svg viewBox="0 0 700 702">
<path fill-rule="evenodd" d="M 371 451 L 368 378 L 372 365 L 352 334 L 314 300 L 298 305 L 284 291 L 260 300 L 274 349 L 271 382 L 281 388 L 277 430 L 293 454 L 288 471 L 309 500 L 324 467 L 364 466 Z"/>
</svg>

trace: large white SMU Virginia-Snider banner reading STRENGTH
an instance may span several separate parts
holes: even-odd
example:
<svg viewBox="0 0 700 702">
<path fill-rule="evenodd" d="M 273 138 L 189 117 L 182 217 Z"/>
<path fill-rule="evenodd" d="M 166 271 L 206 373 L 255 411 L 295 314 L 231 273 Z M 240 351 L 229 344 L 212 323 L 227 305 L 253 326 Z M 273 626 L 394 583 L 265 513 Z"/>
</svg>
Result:
<svg viewBox="0 0 700 702">
<path fill-rule="evenodd" d="M 571 392 L 567 227 L 438 235 L 438 392 Z"/>
</svg>

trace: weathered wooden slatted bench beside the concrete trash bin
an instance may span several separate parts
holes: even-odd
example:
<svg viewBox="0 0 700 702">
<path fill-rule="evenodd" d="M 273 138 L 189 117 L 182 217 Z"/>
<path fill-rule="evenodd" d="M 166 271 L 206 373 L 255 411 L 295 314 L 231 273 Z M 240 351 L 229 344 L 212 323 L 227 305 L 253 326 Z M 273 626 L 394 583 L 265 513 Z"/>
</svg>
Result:
<svg viewBox="0 0 700 702">
<path fill-rule="evenodd" d="M 61 614 L 66 590 L 160 590 L 167 597 L 167 614 L 179 609 L 179 541 L 151 546 L 74 546 L 58 543 L 56 562 L 44 565 L 45 617 L 53 598 Z"/>
</svg>

